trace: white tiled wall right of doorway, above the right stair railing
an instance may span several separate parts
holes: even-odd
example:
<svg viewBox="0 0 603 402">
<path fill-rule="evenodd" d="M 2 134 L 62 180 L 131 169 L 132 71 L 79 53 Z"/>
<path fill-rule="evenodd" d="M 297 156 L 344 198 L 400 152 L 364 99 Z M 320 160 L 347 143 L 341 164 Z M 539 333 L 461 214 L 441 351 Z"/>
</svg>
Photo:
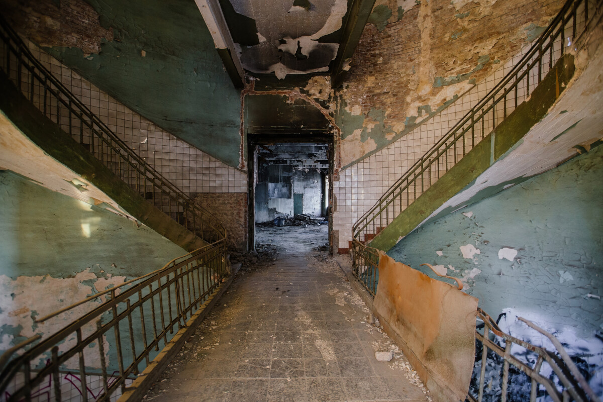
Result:
<svg viewBox="0 0 603 402">
<path fill-rule="evenodd" d="M 520 61 L 522 55 L 528 50 L 529 46 L 526 46 L 522 54 L 513 57 L 494 74 L 474 86 L 425 124 L 339 173 L 339 180 L 333 183 L 337 204 L 333 210 L 333 229 L 339 230 L 338 248 L 348 248 L 348 242 L 352 240 L 352 225 L 376 204 L 380 196 L 423 154 L 429 151 L 437 140 L 484 98 L 488 91 L 493 89 L 496 83 Z M 543 69 L 543 74 L 546 74 L 548 66 L 543 66 Z M 531 80 L 531 82 L 534 83 L 535 80 Z M 522 91 L 522 88 L 518 91 L 519 101 L 525 98 L 522 96 Z M 500 111 L 502 111 L 502 107 Z M 498 123 L 502 120 L 502 113 L 497 113 L 497 116 L 500 116 L 500 119 L 497 117 Z M 490 132 L 485 131 L 486 134 Z"/>
</svg>

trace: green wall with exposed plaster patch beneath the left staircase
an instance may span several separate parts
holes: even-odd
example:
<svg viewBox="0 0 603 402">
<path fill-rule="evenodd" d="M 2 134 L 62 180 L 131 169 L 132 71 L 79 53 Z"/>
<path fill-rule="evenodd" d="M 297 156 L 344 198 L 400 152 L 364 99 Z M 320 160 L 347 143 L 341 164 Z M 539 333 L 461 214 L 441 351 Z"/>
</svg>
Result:
<svg viewBox="0 0 603 402">
<path fill-rule="evenodd" d="M 146 226 L 8 171 L 0 171 L 0 237 L 0 354 L 54 333 L 98 301 L 42 324 L 36 317 L 186 254 Z"/>
</svg>

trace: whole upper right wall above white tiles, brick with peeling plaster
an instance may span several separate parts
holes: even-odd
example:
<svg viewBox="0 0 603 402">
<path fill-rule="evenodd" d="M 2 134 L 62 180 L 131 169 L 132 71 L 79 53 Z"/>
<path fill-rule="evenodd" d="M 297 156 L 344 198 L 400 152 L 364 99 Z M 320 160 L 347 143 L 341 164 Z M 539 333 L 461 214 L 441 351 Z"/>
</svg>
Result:
<svg viewBox="0 0 603 402">
<path fill-rule="evenodd" d="M 505 64 L 548 25 L 560 0 L 377 0 L 335 92 L 341 165 L 353 165 Z"/>
</svg>

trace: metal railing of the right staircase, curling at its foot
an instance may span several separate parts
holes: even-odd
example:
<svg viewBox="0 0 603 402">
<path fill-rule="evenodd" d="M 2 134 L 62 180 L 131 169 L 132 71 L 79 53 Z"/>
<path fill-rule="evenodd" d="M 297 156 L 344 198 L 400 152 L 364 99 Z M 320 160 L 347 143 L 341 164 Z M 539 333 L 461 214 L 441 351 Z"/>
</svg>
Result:
<svg viewBox="0 0 603 402">
<path fill-rule="evenodd" d="M 367 243 L 529 98 L 561 56 L 583 45 L 601 0 L 569 0 L 519 62 L 352 227 L 353 272 L 374 296 L 379 254 Z"/>
</svg>

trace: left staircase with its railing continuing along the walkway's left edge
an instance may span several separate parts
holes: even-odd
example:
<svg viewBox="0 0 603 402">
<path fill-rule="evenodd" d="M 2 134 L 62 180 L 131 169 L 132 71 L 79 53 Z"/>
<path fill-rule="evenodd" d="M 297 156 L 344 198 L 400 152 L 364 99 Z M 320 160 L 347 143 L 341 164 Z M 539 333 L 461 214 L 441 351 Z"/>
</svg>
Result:
<svg viewBox="0 0 603 402">
<path fill-rule="evenodd" d="M 0 93 L 2 111 L 37 146 L 191 251 L 35 319 L 87 311 L 0 356 L 0 401 L 142 400 L 232 281 L 226 230 L 53 77 L 1 16 Z"/>
</svg>

